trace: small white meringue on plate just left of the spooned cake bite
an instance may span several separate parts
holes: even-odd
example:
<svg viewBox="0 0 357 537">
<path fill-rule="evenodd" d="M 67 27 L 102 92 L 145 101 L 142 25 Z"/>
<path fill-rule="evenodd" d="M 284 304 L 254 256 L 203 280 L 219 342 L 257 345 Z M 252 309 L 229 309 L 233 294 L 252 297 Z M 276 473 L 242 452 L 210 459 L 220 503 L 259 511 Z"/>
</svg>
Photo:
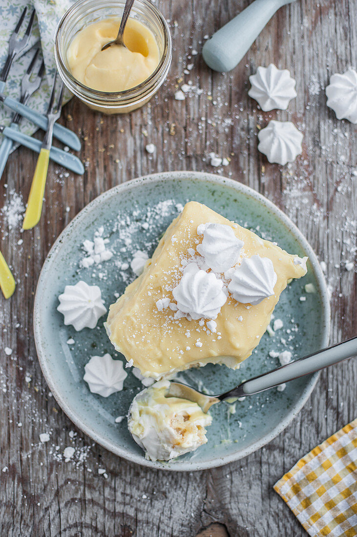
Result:
<svg viewBox="0 0 357 537">
<path fill-rule="evenodd" d="M 110 354 L 92 356 L 84 369 L 83 380 L 88 383 L 93 394 L 99 394 L 102 397 L 108 397 L 115 391 L 121 391 L 123 382 L 128 376 L 123 368 L 123 363 L 120 360 L 113 360 Z"/>
</svg>

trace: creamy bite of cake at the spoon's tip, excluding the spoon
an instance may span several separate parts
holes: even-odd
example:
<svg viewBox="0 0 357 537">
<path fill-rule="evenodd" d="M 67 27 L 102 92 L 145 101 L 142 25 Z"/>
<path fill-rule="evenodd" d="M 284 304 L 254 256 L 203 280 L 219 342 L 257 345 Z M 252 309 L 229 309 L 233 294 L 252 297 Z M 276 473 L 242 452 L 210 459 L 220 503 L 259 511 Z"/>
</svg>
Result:
<svg viewBox="0 0 357 537">
<path fill-rule="evenodd" d="M 137 394 L 129 409 L 129 431 L 152 461 L 168 461 L 206 444 L 212 423 L 197 403 L 165 397 L 169 387 L 169 381 L 156 382 Z"/>
</svg>

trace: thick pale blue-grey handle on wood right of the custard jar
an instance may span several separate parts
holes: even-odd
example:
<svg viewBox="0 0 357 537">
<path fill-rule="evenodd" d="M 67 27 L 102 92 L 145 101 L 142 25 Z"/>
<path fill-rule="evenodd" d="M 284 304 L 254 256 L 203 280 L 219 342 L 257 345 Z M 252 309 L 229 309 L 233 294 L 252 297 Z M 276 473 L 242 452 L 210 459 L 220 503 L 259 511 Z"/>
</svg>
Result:
<svg viewBox="0 0 357 537">
<path fill-rule="evenodd" d="M 203 60 L 214 71 L 236 67 L 260 32 L 281 6 L 295 0 L 255 0 L 229 21 L 202 48 Z"/>
</svg>

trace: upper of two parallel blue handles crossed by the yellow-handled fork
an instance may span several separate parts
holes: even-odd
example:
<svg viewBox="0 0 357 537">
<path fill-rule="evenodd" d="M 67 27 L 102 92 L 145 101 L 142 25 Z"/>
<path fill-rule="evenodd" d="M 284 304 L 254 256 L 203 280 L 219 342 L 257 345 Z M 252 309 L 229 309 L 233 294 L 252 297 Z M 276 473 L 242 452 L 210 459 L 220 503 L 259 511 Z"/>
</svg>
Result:
<svg viewBox="0 0 357 537">
<path fill-rule="evenodd" d="M 4 99 L 4 104 L 14 112 L 18 112 L 24 118 L 32 121 L 35 125 L 38 125 L 42 130 L 47 130 L 48 119 L 46 115 L 35 112 L 32 108 L 19 103 L 18 100 L 12 99 L 12 97 L 6 97 Z M 57 140 L 60 140 L 71 149 L 74 149 L 75 151 L 81 149 L 81 141 L 72 130 L 55 123 L 53 135 Z"/>
</svg>

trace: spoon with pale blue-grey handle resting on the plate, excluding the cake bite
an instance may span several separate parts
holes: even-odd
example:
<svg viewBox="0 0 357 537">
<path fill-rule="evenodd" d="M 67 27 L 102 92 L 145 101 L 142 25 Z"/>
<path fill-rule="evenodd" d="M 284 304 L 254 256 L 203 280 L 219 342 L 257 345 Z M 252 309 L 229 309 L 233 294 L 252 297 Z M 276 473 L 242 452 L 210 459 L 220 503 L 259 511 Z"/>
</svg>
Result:
<svg viewBox="0 0 357 537">
<path fill-rule="evenodd" d="M 189 401 L 198 403 L 203 412 L 207 412 L 213 404 L 229 399 L 230 397 L 245 397 L 246 395 L 258 394 L 260 391 L 274 388 L 275 386 L 279 386 L 279 384 L 298 379 L 304 375 L 309 375 L 310 373 L 319 371 L 319 369 L 338 364 L 338 362 L 356 355 L 357 337 L 354 337 L 322 351 L 309 354 L 285 366 L 273 369 L 273 371 L 269 371 L 263 375 L 256 376 L 253 379 L 246 380 L 232 390 L 220 395 L 202 394 L 200 391 L 186 386 L 186 384 L 171 382 L 166 397 L 188 399 Z"/>
</svg>

